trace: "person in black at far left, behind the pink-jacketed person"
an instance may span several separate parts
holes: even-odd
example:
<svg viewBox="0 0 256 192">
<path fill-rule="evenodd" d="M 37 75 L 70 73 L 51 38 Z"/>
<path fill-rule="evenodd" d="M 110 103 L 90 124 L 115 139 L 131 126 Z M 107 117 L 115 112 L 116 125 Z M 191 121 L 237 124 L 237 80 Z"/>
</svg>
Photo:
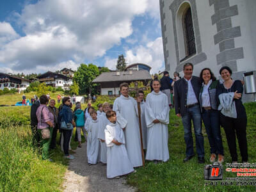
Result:
<svg viewBox="0 0 256 192">
<path fill-rule="evenodd" d="M 36 100 L 36 102 L 34 102 L 33 105 L 31 106 L 31 111 L 30 111 L 30 125 L 31 125 L 31 131 L 32 131 L 33 145 L 38 145 L 38 143 L 40 141 L 40 136 L 38 135 L 38 132 L 36 131 L 37 124 L 38 124 L 38 120 L 36 118 L 36 110 L 39 106 L 40 106 L 40 101 Z"/>
</svg>

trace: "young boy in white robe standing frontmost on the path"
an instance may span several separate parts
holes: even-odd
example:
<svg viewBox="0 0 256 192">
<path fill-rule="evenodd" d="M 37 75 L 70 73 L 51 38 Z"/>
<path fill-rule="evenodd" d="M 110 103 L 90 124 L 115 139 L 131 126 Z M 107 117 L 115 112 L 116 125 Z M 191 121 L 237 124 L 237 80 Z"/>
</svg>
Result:
<svg viewBox="0 0 256 192">
<path fill-rule="evenodd" d="M 106 145 L 108 146 L 107 177 L 108 179 L 118 179 L 121 175 L 134 172 L 134 169 L 125 148 L 124 132 L 116 123 L 115 111 L 108 111 L 106 115 L 109 120 L 105 129 Z"/>
</svg>

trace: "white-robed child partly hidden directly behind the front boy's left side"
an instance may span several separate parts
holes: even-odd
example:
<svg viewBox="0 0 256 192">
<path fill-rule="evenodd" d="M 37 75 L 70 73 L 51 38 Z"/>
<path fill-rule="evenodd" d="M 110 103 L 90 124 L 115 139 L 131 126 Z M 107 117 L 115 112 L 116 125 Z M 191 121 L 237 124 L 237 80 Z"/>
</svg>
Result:
<svg viewBox="0 0 256 192">
<path fill-rule="evenodd" d="M 102 126 L 99 129 L 98 139 L 100 141 L 100 162 L 107 163 L 107 145 L 105 142 L 105 132 L 106 126 L 109 124 L 109 120 L 106 116 L 106 113 L 110 110 L 109 103 L 104 102 L 102 104 L 103 111 L 98 118 L 102 120 Z"/>
</svg>

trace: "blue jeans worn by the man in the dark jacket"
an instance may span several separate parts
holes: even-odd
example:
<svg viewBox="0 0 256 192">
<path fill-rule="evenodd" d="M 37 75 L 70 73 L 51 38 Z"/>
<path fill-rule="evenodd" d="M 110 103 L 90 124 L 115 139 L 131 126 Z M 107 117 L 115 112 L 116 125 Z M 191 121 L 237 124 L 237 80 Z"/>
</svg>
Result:
<svg viewBox="0 0 256 192">
<path fill-rule="evenodd" d="M 202 134 L 202 121 L 199 105 L 193 106 L 193 108 L 188 108 L 186 115 L 182 116 L 187 157 L 195 155 L 191 131 L 191 120 L 193 120 L 193 126 L 196 136 L 196 153 L 198 157 L 204 157 L 204 136 Z"/>
</svg>

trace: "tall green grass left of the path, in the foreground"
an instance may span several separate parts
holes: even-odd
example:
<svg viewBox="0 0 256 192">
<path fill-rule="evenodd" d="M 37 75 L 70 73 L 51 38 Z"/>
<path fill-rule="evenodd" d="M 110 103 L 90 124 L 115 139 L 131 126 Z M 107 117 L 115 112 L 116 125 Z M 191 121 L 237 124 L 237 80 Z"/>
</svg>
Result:
<svg viewBox="0 0 256 192">
<path fill-rule="evenodd" d="M 68 160 L 60 146 L 51 150 L 53 162 L 42 160 L 31 144 L 29 115 L 29 106 L 0 108 L 0 191 L 61 191 Z"/>
</svg>

